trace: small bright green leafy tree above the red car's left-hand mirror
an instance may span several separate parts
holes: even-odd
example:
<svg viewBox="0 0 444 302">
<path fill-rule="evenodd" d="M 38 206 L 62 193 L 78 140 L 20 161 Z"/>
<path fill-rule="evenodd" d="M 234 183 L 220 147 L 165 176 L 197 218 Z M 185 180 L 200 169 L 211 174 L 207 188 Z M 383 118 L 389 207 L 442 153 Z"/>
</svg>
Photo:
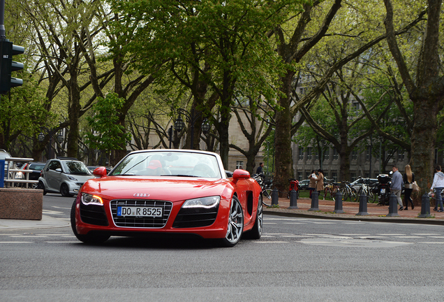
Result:
<svg viewBox="0 0 444 302">
<path fill-rule="evenodd" d="M 122 125 L 117 124 L 117 113 L 124 106 L 124 102 L 124 99 L 114 93 L 107 94 L 105 99 L 98 98 L 92 107 L 93 116 L 87 117 L 88 125 L 93 129 L 86 134 L 86 142 L 91 149 L 121 150 L 122 145 L 131 141 L 131 135 L 124 131 Z"/>
</svg>

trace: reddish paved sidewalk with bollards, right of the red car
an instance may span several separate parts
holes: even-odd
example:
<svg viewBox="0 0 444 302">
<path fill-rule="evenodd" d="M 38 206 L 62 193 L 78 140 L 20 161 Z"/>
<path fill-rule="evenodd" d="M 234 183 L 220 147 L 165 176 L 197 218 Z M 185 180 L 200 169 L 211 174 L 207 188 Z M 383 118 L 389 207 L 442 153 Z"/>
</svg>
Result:
<svg viewBox="0 0 444 302">
<path fill-rule="evenodd" d="M 265 203 L 271 204 L 271 199 L 265 200 Z M 289 209 L 290 199 L 279 198 L 278 208 L 264 207 L 265 213 L 274 213 L 276 215 L 290 217 L 316 217 L 332 220 L 361 220 L 375 222 L 401 222 L 401 223 L 421 223 L 421 224 L 442 224 L 444 225 L 444 212 L 438 213 L 431 206 L 430 218 L 418 218 L 421 214 L 421 206 L 415 206 L 412 210 L 399 210 L 397 217 L 387 217 L 389 213 L 388 206 L 378 206 L 376 203 L 367 203 L 367 213 L 369 215 L 356 215 L 360 211 L 360 203 L 344 201 L 342 210 L 345 213 L 334 213 L 334 201 L 325 201 L 320 199 L 318 202 L 318 211 L 309 210 L 311 208 L 311 199 L 297 199 L 298 209 Z M 399 206 L 397 207 L 399 208 Z"/>
</svg>

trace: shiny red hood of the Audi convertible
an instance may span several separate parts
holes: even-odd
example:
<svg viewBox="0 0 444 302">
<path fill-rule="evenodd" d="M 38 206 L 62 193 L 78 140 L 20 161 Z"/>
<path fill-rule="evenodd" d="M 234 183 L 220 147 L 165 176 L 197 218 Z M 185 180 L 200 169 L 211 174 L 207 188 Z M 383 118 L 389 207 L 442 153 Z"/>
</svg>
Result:
<svg viewBox="0 0 444 302">
<path fill-rule="evenodd" d="M 203 196 L 223 196 L 227 187 L 231 187 L 228 179 L 108 176 L 89 180 L 82 192 L 100 194 L 105 199 L 182 201 Z"/>
</svg>

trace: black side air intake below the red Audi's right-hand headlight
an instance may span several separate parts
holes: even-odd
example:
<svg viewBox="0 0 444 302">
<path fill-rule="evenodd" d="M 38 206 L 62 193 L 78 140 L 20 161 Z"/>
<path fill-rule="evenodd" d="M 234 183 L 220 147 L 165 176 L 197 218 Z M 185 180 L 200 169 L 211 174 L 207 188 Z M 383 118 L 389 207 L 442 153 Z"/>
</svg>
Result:
<svg viewBox="0 0 444 302">
<path fill-rule="evenodd" d="M 176 216 L 174 228 L 208 227 L 217 217 L 219 205 L 214 208 L 182 208 Z"/>
</svg>

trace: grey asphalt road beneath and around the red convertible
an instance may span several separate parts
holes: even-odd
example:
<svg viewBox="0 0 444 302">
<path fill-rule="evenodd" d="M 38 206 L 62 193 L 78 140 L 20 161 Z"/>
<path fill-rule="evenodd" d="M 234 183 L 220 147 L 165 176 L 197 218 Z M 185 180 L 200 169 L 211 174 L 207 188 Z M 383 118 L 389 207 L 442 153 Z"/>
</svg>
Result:
<svg viewBox="0 0 444 302">
<path fill-rule="evenodd" d="M 48 194 L 68 220 L 73 198 Z M 265 215 L 260 240 L 0 231 L 0 301 L 442 301 L 444 227 Z"/>
</svg>

